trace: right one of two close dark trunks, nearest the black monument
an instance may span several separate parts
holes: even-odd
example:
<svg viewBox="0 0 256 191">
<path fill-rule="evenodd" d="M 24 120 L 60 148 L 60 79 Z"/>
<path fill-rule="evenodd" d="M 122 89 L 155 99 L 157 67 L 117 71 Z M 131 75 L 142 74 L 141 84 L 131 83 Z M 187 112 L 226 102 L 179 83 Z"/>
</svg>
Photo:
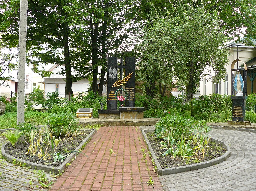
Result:
<svg viewBox="0 0 256 191">
<path fill-rule="evenodd" d="M 108 22 L 108 11 L 109 3 L 105 3 L 104 10 L 104 18 L 103 18 L 103 26 L 102 26 L 102 64 L 101 64 L 101 76 L 100 76 L 100 86 L 99 86 L 99 94 L 102 95 L 104 79 L 105 79 L 105 68 L 106 68 L 106 41 L 107 41 L 107 22 Z"/>
</svg>

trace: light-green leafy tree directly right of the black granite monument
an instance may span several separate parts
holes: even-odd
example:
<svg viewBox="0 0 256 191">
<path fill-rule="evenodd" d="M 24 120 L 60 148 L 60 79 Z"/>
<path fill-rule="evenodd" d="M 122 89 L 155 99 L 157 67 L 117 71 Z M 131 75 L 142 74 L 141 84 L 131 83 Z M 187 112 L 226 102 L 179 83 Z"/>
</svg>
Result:
<svg viewBox="0 0 256 191">
<path fill-rule="evenodd" d="M 168 22 L 158 22 L 159 19 L 154 20 L 153 27 L 144 29 L 144 36 L 141 43 L 137 46 L 140 61 L 138 65 L 140 80 L 146 84 L 146 93 L 151 96 L 156 89 L 155 81 L 159 82 L 159 91 L 164 96 L 166 85 L 172 83 L 173 66 L 170 54 L 170 43 L 173 41 L 172 37 L 168 36 L 168 29 L 166 26 Z M 163 91 L 161 86 L 163 85 Z"/>
</svg>

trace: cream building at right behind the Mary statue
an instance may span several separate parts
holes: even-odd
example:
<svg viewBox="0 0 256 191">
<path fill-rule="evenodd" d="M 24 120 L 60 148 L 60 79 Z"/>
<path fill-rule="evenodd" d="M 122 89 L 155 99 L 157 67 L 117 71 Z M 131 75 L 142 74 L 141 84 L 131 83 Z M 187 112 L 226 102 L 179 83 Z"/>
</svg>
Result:
<svg viewBox="0 0 256 191">
<path fill-rule="evenodd" d="M 241 41 L 243 38 L 241 38 Z M 230 55 L 228 57 L 229 64 L 226 66 L 226 76 L 225 80 L 221 80 L 220 83 L 215 82 L 216 74 L 214 71 L 211 74 L 205 76 L 200 81 L 200 95 L 207 95 L 211 93 L 218 94 L 227 94 L 231 95 L 231 64 L 234 60 L 240 59 L 244 63 L 252 62 L 252 59 L 256 57 L 256 41 L 254 41 L 254 46 L 247 46 L 242 42 L 231 42 L 227 45 L 229 47 Z M 238 66 L 241 66 L 243 62 L 238 62 Z M 237 64 L 235 64 L 237 67 Z M 250 94 L 252 91 L 251 80 L 250 80 L 251 71 L 247 71 L 247 94 Z M 255 79 L 256 80 L 256 79 Z M 256 83 L 254 83 L 254 90 L 256 90 Z"/>
</svg>

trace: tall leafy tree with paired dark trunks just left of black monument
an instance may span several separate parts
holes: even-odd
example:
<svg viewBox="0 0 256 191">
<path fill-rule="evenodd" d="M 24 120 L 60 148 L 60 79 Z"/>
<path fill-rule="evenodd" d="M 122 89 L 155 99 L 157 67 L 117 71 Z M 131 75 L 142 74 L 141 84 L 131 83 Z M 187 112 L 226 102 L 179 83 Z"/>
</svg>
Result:
<svg viewBox="0 0 256 191">
<path fill-rule="evenodd" d="M 90 55 L 92 60 L 93 92 L 102 93 L 107 56 L 121 56 L 133 44 L 131 33 L 136 31 L 134 27 L 136 16 L 136 1 L 134 0 L 90 0 L 82 3 L 85 13 L 88 15 L 83 20 L 83 30 L 90 33 Z M 125 44 L 125 45 L 124 45 Z M 123 56 L 123 55 L 122 55 Z M 101 68 L 101 73 L 98 73 Z M 100 76 L 98 86 L 97 79 Z"/>
</svg>

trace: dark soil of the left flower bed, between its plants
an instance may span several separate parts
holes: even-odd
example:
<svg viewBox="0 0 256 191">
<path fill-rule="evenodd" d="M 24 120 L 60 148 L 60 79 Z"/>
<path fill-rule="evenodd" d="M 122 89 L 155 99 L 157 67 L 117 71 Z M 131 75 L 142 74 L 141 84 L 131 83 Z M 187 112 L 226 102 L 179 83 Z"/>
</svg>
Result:
<svg viewBox="0 0 256 191">
<path fill-rule="evenodd" d="M 90 135 L 91 132 L 92 132 L 92 129 L 83 130 L 81 134 L 78 134 L 78 136 L 74 137 L 72 140 L 60 142 L 57 149 L 55 150 L 55 152 L 64 151 L 65 148 L 67 148 L 67 150 L 75 150 L 80 145 L 80 143 L 84 139 L 86 139 L 86 137 L 88 137 L 88 135 Z M 44 151 L 45 151 L 46 147 L 47 146 L 44 147 Z M 48 150 L 47 150 L 47 152 L 51 155 L 51 158 L 48 160 L 40 161 L 38 159 L 37 155 L 36 156 L 26 155 L 25 153 L 27 151 L 28 151 L 28 144 L 25 141 L 17 142 L 15 145 L 15 148 L 12 147 L 12 144 L 10 144 L 10 142 L 8 144 L 6 144 L 6 146 L 5 146 L 5 152 L 15 158 L 18 158 L 18 159 L 23 159 L 23 160 L 34 162 L 34 163 L 55 166 L 55 167 L 58 167 L 63 162 L 63 161 L 62 162 L 59 161 L 59 162 L 53 163 L 54 160 L 52 158 L 53 155 L 52 155 L 51 144 L 49 145 Z M 37 149 L 37 152 L 38 151 L 40 151 L 40 150 Z M 71 153 L 69 153 L 69 154 L 71 154 Z M 65 156 L 64 153 L 62 153 L 62 155 Z"/>
</svg>

